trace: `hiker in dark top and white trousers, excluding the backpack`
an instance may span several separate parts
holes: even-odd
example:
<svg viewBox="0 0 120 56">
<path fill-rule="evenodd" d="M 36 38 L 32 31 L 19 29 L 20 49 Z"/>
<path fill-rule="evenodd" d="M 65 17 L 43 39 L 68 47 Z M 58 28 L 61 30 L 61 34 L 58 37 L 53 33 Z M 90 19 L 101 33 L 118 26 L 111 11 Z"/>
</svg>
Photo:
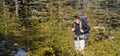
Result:
<svg viewBox="0 0 120 56">
<path fill-rule="evenodd" d="M 89 26 L 82 22 L 79 16 L 74 16 L 72 31 L 74 32 L 75 50 L 83 51 L 85 48 L 85 35 L 90 30 Z"/>
</svg>

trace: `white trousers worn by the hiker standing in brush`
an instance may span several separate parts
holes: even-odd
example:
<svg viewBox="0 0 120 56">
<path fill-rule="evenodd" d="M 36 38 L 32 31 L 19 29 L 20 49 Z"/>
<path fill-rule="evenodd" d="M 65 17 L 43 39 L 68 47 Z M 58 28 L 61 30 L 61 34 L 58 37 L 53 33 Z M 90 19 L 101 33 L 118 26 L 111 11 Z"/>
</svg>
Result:
<svg viewBox="0 0 120 56">
<path fill-rule="evenodd" d="M 77 40 L 75 40 L 74 44 L 75 44 L 75 50 L 78 51 L 83 51 L 85 48 L 85 39 L 84 39 L 84 35 L 80 35 L 77 36 Z"/>
</svg>

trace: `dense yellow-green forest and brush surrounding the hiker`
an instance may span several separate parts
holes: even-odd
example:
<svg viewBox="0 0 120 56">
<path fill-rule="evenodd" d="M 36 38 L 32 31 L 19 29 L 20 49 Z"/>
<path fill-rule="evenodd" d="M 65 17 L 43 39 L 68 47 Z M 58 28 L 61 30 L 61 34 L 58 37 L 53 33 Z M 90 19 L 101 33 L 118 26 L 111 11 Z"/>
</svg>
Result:
<svg viewBox="0 0 120 56">
<path fill-rule="evenodd" d="M 91 28 L 84 54 L 71 32 L 80 13 Z M 0 40 L 11 43 L 3 56 L 20 46 L 28 56 L 120 56 L 119 33 L 120 0 L 0 0 Z"/>
</svg>

